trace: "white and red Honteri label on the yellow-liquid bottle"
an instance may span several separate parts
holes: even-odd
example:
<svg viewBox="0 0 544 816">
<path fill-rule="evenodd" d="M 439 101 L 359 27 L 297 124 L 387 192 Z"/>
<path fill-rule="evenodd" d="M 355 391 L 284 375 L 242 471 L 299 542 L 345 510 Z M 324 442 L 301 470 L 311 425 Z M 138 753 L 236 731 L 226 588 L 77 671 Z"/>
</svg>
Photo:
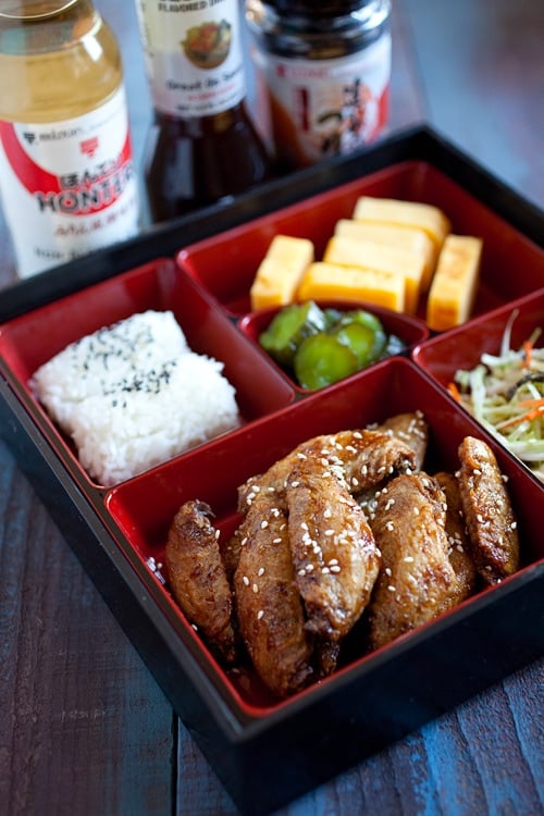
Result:
<svg viewBox="0 0 544 816">
<path fill-rule="evenodd" d="M 136 234 L 137 186 L 123 87 L 63 122 L 0 121 L 0 191 L 22 277 Z"/>
</svg>

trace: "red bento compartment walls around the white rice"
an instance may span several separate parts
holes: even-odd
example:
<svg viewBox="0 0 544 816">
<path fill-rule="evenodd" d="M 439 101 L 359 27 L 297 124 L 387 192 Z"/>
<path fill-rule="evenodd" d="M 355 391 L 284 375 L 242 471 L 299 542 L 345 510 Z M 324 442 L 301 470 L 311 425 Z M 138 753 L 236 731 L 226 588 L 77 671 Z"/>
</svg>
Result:
<svg viewBox="0 0 544 816">
<path fill-rule="evenodd" d="M 245 421 L 293 400 L 293 387 L 234 322 L 172 260 L 159 259 L 29 311 L 0 327 L 0 356 L 8 367 L 7 373 L 24 398 L 30 400 L 30 412 L 47 424 L 57 442 L 60 435 L 30 394 L 28 381 L 34 371 L 69 343 L 147 309 L 171 309 L 191 349 L 224 362 L 223 373 L 236 388 Z M 61 446 L 65 454 L 67 445 L 61 443 Z M 73 458 L 72 453 L 70 456 Z"/>
</svg>

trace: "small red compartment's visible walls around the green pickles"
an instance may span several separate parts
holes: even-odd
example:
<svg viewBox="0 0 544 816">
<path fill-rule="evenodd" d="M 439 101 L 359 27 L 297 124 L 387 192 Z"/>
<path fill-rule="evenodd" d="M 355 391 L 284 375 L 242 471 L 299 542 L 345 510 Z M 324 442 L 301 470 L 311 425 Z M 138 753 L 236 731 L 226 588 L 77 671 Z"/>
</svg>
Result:
<svg viewBox="0 0 544 816">
<path fill-rule="evenodd" d="M 409 314 L 399 314 L 398 312 L 392 311 L 391 309 L 383 309 L 374 304 L 361 304 L 361 302 L 338 302 L 338 301 L 318 301 L 318 306 L 323 309 L 332 307 L 339 311 L 348 311 L 349 309 L 367 309 L 381 321 L 386 334 L 395 334 L 406 344 L 406 351 L 409 353 L 411 349 L 420 343 L 423 343 L 430 336 L 430 331 L 423 321 L 418 318 L 412 318 Z M 261 311 L 250 312 L 245 314 L 239 320 L 240 331 L 247 334 L 254 343 L 259 343 L 259 335 L 263 332 L 279 309 L 262 309 Z M 265 353 L 264 353 L 265 354 Z M 281 368 L 281 367 L 280 367 Z M 283 370 L 283 369 L 282 369 Z M 287 375 L 290 376 L 290 372 L 286 371 Z M 293 379 L 293 378 L 292 378 Z M 293 384 L 297 390 L 306 392 L 305 388 L 300 388 L 296 381 L 293 379 Z"/>
</svg>

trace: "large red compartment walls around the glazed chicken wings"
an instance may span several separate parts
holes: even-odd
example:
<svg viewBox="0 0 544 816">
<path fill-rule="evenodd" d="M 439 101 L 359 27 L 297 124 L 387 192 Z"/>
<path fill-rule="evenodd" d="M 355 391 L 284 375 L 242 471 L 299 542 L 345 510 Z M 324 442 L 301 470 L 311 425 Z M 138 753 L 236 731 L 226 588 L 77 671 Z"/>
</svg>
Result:
<svg viewBox="0 0 544 816">
<path fill-rule="evenodd" d="M 383 366 L 370 369 L 344 383 L 308 396 L 296 405 L 285 408 L 273 417 L 263 418 L 233 434 L 215 440 L 163 467 L 136 478 L 112 490 L 107 496 L 106 510 L 113 520 L 114 535 L 128 558 L 135 555 L 143 564 L 149 558 L 161 562 L 168 528 L 180 505 L 188 499 L 208 502 L 217 515 L 218 527 L 223 536 L 228 535 L 238 521 L 236 515 L 237 487 L 248 477 L 262 472 L 273 461 L 287 454 L 299 442 L 321 433 L 362 426 L 380 421 L 394 413 L 420 409 L 430 424 L 430 445 L 425 469 L 455 471 L 458 467 L 457 447 L 466 435 L 485 437 L 470 417 L 452 403 L 442 388 L 436 386 L 409 360 L 392 359 Z M 520 580 L 520 574 L 544 558 L 544 543 L 536 531 L 540 529 L 543 490 L 527 478 L 524 470 L 493 440 L 503 472 L 508 477 L 509 491 L 518 517 L 522 542 L 523 568 L 500 586 L 480 593 L 492 595 L 502 586 Z M 164 614 L 177 626 L 181 639 L 191 651 L 200 653 L 208 673 L 231 704 L 240 706 L 250 716 L 265 715 L 279 704 L 263 693 L 255 677 L 230 675 L 212 658 L 207 647 L 199 643 L 198 635 L 187 623 L 168 588 L 159 588 Z M 474 597 L 479 597 L 474 596 Z M 474 598 L 466 601 L 467 607 Z M 459 609 L 460 607 L 457 607 Z M 456 609 L 442 616 L 453 617 Z M 432 630 L 434 623 L 422 629 Z M 421 632 L 420 630 L 418 630 Z M 405 635 L 408 640 L 412 634 Z M 398 641 L 396 642 L 398 643 Z M 180 643 L 182 647 L 182 643 Z M 384 659 L 391 646 L 380 651 Z M 348 665 L 338 669 L 331 678 L 290 698 L 324 692 L 333 687 L 346 672 L 364 671 L 373 655 L 363 655 L 362 647 Z"/>
</svg>

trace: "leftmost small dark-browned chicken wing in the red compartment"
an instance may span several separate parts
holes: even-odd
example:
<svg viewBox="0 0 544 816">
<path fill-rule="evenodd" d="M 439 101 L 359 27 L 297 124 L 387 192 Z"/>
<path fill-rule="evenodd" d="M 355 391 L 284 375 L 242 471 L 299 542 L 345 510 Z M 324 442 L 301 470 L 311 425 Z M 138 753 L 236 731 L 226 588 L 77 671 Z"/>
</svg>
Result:
<svg viewBox="0 0 544 816">
<path fill-rule="evenodd" d="M 210 647 L 232 663 L 237 657 L 233 597 L 212 518 L 205 502 L 182 505 L 169 530 L 164 560 L 180 607 Z"/>
</svg>

